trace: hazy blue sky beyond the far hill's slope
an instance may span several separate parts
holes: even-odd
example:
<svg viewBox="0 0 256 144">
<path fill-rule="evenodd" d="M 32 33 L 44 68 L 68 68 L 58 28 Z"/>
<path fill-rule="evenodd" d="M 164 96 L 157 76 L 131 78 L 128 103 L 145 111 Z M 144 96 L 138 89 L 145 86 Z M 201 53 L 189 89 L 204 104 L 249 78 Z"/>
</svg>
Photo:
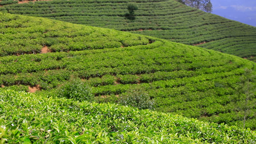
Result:
<svg viewBox="0 0 256 144">
<path fill-rule="evenodd" d="M 212 13 L 256 26 L 256 0 L 211 0 Z"/>
</svg>

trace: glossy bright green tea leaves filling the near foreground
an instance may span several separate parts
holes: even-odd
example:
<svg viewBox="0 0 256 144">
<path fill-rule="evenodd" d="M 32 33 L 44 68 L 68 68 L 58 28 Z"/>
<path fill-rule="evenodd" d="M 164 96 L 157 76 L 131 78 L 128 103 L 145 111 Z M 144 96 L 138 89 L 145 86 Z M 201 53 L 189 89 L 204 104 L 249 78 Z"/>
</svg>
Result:
<svg viewBox="0 0 256 144">
<path fill-rule="evenodd" d="M 0 91 L 1 143 L 255 143 L 255 132 L 116 104 Z"/>
</svg>

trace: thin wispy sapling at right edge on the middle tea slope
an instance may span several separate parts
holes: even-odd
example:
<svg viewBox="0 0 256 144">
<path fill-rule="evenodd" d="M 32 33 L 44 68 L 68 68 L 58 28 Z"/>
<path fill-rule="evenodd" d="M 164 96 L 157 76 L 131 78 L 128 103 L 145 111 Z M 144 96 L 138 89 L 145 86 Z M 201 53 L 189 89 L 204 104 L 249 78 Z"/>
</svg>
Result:
<svg viewBox="0 0 256 144">
<path fill-rule="evenodd" d="M 253 108 L 255 107 L 255 75 L 252 70 L 245 69 L 245 73 L 240 77 L 240 82 L 237 85 L 237 95 L 233 98 L 235 101 L 236 111 L 241 111 L 243 114 L 243 128 L 245 128 L 245 121 L 255 116 Z"/>
</svg>

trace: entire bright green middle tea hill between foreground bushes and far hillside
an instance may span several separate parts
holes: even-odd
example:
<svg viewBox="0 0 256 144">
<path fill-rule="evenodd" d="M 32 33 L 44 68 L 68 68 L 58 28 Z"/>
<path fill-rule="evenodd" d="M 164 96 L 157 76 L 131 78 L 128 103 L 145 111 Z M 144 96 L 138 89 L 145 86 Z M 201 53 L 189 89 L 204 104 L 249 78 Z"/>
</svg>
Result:
<svg viewBox="0 0 256 144">
<path fill-rule="evenodd" d="M 255 75 L 254 62 L 149 36 L 45 18 L 0 13 L 0 21 L 1 89 L 120 103 L 243 127 L 244 110 L 237 105 L 245 100 L 236 99 L 236 88 L 246 68 Z M 255 90 L 255 77 L 250 83 Z M 83 89 L 83 95 L 77 95 Z M 252 107 L 245 117 L 245 128 L 252 130 L 256 128 L 255 100 L 254 91 L 254 97 L 246 100 Z"/>
</svg>

